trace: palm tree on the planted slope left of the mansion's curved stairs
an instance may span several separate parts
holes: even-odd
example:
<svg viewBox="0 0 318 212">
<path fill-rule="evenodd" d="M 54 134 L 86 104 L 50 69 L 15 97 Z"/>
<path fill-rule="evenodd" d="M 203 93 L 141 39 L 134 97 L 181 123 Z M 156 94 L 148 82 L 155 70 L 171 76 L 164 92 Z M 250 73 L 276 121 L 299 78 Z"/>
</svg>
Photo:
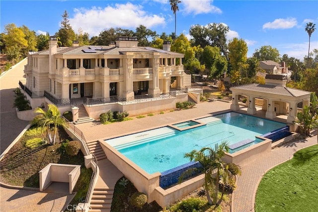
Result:
<svg viewBox="0 0 318 212">
<path fill-rule="evenodd" d="M 35 113 L 40 113 L 36 115 L 32 120 L 32 124 L 37 124 L 42 127 L 41 133 L 44 130 L 47 131 L 47 136 L 49 142 L 54 145 L 58 126 L 65 126 L 65 120 L 61 117 L 61 113 L 57 106 L 49 104 L 48 110 L 44 111 L 41 107 L 35 109 Z M 51 126 L 53 125 L 53 139 L 51 135 Z"/>
</svg>

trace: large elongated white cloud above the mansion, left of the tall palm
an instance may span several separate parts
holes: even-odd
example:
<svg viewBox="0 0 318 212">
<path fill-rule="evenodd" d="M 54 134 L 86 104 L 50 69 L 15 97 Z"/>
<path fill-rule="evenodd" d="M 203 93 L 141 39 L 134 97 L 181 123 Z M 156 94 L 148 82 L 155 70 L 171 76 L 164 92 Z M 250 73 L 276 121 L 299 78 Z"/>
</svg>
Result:
<svg viewBox="0 0 318 212">
<path fill-rule="evenodd" d="M 76 8 L 74 11 L 74 17 L 70 18 L 72 28 L 77 32 L 81 27 L 89 36 L 97 36 L 103 29 L 110 27 L 135 29 L 140 24 L 147 28 L 165 25 L 163 16 L 148 14 L 143 10 L 143 6 L 130 2 L 116 3 L 114 6 L 108 5 L 104 8 Z"/>
</svg>

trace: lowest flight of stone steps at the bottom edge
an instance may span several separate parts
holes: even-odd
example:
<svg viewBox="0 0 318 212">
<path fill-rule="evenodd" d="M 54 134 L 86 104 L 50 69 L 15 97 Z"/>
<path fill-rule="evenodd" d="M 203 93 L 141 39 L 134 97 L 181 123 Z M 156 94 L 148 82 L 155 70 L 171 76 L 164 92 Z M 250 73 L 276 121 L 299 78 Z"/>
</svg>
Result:
<svg viewBox="0 0 318 212">
<path fill-rule="evenodd" d="M 89 212 L 110 212 L 114 189 L 95 187 L 91 197 Z"/>
</svg>

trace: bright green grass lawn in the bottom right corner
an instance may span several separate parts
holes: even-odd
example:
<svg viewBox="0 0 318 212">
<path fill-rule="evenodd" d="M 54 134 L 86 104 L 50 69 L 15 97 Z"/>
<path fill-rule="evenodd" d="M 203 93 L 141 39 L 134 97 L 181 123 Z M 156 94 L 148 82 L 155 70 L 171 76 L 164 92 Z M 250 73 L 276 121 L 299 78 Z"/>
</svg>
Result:
<svg viewBox="0 0 318 212">
<path fill-rule="evenodd" d="M 262 178 L 255 212 L 314 212 L 318 209 L 318 145 L 299 150 L 294 157 Z"/>
</svg>

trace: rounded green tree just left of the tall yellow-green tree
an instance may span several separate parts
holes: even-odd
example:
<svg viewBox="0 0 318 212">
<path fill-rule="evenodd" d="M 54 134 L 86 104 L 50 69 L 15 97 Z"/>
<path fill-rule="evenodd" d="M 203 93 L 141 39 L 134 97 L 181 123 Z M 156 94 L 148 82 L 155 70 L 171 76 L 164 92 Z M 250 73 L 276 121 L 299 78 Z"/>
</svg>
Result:
<svg viewBox="0 0 318 212">
<path fill-rule="evenodd" d="M 204 47 L 201 61 L 209 70 L 210 78 L 219 78 L 228 68 L 227 59 L 221 55 L 219 47 Z"/>
</svg>

